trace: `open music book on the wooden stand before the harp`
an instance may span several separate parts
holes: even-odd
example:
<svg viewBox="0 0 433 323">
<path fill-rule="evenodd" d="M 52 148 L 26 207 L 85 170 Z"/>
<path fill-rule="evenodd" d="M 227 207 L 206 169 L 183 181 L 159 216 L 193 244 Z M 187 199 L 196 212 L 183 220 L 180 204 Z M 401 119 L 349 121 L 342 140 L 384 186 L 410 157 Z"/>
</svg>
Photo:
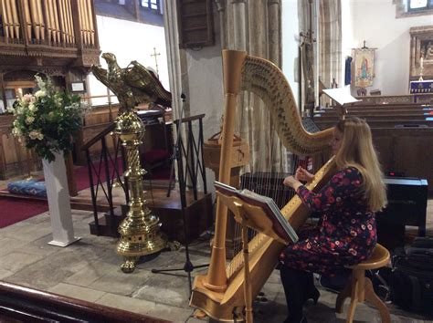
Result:
<svg viewBox="0 0 433 323">
<path fill-rule="evenodd" d="M 278 234 L 281 239 L 287 243 L 298 241 L 298 234 L 296 234 L 295 230 L 291 227 L 289 221 L 286 220 L 284 215 L 281 214 L 280 208 L 272 198 L 251 192 L 247 189 L 238 190 L 235 187 L 222 182 L 215 182 L 215 188 L 216 191 L 228 196 L 236 196 L 238 199 L 248 204 L 261 207 L 264 214 L 269 217 L 269 220 L 271 220 L 274 225 L 275 233 Z"/>
</svg>

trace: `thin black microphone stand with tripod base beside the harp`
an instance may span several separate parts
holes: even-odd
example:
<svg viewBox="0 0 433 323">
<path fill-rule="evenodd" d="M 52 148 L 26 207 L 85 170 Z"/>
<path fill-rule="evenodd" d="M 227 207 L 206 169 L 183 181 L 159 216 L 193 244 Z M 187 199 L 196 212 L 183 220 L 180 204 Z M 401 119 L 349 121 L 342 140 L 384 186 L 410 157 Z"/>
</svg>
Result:
<svg viewBox="0 0 433 323">
<path fill-rule="evenodd" d="M 174 152 L 173 152 L 173 157 L 172 157 L 172 168 L 170 170 L 170 182 L 168 184 L 168 192 L 167 192 L 167 197 L 170 197 L 170 192 L 171 192 L 171 185 L 172 185 L 172 180 L 173 180 L 173 175 L 174 175 L 174 162 L 178 161 L 181 163 L 182 165 L 182 161 L 181 161 L 181 154 L 180 154 L 180 144 L 181 144 L 181 136 L 180 136 L 180 132 L 181 132 L 181 126 L 182 126 L 182 119 L 184 116 L 184 111 L 185 111 L 185 93 L 182 92 L 181 94 L 181 98 L 182 98 L 182 109 L 181 109 L 181 115 L 180 118 L 178 120 L 177 123 L 177 137 L 176 137 L 176 142 L 174 144 Z M 172 269 L 152 269 L 153 274 L 164 274 L 164 273 L 169 273 L 169 272 L 173 272 L 173 271 L 179 271 L 179 270 L 184 270 L 188 276 L 188 287 L 189 287 L 189 295 L 191 295 L 192 292 L 192 282 L 191 282 L 191 272 L 195 269 L 195 268 L 203 268 L 206 266 L 209 266 L 208 264 L 206 265 L 200 265 L 200 266 L 194 266 L 193 263 L 191 262 L 190 256 L 189 256 L 189 227 L 188 227 L 188 221 L 186 219 L 186 215 L 185 215 L 185 206 L 186 206 L 186 199 L 185 199 L 185 181 L 184 181 L 184 172 L 182 170 L 183 166 L 180 167 L 179 170 L 179 174 L 178 174 L 178 178 L 179 178 L 179 188 L 181 191 L 181 204 L 182 204 L 182 222 L 184 224 L 184 235 L 185 235 L 185 265 L 182 268 L 172 268 Z M 184 192 L 182 192 L 184 191 Z"/>
</svg>

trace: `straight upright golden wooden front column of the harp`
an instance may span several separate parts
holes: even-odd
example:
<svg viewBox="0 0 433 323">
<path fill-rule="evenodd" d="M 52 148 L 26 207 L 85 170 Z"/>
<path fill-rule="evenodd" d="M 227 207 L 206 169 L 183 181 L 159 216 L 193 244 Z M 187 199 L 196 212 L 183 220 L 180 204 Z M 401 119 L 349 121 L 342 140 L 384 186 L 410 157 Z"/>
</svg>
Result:
<svg viewBox="0 0 433 323">
<path fill-rule="evenodd" d="M 224 77 L 224 122 L 221 143 L 221 157 L 219 168 L 219 182 L 229 183 L 231 172 L 231 151 L 233 135 L 235 132 L 236 106 L 241 82 L 241 70 L 247 57 L 245 51 L 223 51 L 223 77 Z M 226 276 L 226 229 L 227 206 L 216 200 L 215 239 L 212 245 L 209 272 L 205 286 L 215 291 L 227 288 Z"/>
</svg>

